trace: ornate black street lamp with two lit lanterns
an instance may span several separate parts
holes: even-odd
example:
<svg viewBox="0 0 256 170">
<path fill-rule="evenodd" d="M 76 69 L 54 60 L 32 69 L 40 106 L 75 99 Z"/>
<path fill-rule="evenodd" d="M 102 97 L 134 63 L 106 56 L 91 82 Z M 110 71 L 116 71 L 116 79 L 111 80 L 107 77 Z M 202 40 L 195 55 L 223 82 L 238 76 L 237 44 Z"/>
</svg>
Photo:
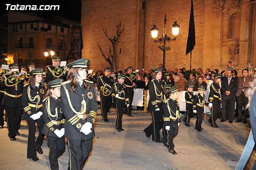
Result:
<svg viewBox="0 0 256 170">
<path fill-rule="evenodd" d="M 177 21 L 174 21 L 174 24 L 172 25 L 172 35 L 174 37 L 169 36 L 166 33 L 166 14 L 164 16 L 164 34 L 162 34 L 159 38 L 157 38 L 158 35 L 158 28 L 156 28 L 156 25 L 153 25 L 153 28 L 151 28 L 151 36 L 154 39 L 154 42 L 162 43 L 162 47 L 160 48 L 163 50 L 163 67 L 165 69 L 165 51 L 169 49 L 170 46 L 166 48 L 166 41 L 170 42 L 172 40 L 176 40 L 176 36 L 179 34 L 180 26 L 177 24 Z"/>
</svg>

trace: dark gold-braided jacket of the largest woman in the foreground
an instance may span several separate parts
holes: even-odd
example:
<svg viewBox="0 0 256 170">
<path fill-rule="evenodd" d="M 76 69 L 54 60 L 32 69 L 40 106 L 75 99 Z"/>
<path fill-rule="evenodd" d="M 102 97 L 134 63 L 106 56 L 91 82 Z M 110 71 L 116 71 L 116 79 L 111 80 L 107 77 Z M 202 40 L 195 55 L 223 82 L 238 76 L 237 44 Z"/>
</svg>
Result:
<svg viewBox="0 0 256 170">
<path fill-rule="evenodd" d="M 70 90 L 70 80 L 63 82 L 60 87 L 61 108 L 65 117 L 65 137 L 72 140 L 89 140 L 95 136 L 93 124 L 96 119 L 98 104 L 93 84 L 87 80 L 84 81 L 91 86 L 90 91 L 84 88 L 83 85 L 80 86 L 78 81 L 76 82 L 77 92 Z M 82 107 L 81 102 L 85 102 L 86 107 Z M 86 122 L 92 124 L 92 132 L 88 135 L 80 132 L 81 127 Z"/>
</svg>

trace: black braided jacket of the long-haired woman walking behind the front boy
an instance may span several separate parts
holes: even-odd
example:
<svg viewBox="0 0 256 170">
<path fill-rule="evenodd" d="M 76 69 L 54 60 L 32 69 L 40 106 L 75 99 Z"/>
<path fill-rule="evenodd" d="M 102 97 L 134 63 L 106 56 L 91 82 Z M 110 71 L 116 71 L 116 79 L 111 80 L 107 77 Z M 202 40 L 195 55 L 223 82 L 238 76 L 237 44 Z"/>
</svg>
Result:
<svg viewBox="0 0 256 170">
<path fill-rule="evenodd" d="M 164 82 L 161 80 L 151 80 L 148 82 L 149 90 L 149 101 L 148 110 L 151 112 L 163 112 L 163 102 L 164 102 Z M 156 111 L 159 108 L 160 111 Z"/>
</svg>

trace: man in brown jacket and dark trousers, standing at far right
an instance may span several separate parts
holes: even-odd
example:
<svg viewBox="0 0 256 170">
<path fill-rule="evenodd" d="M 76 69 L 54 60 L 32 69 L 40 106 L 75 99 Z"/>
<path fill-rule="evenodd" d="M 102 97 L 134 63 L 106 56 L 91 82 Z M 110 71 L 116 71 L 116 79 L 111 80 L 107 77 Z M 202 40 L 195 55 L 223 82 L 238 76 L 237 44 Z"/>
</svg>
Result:
<svg viewBox="0 0 256 170">
<path fill-rule="evenodd" d="M 238 79 L 238 90 L 236 92 L 236 99 L 237 99 L 237 114 L 238 118 L 236 122 L 242 121 L 242 108 L 244 106 L 244 117 L 243 123 L 246 124 L 247 117 L 248 117 L 248 109 L 245 109 L 246 105 L 248 104 L 248 95 L 246 95 L 246 91 L 250 88 L 250 83 L 253 81 L 252 77 L 248 76 L 248 70 L 242 70 L 242 77 Z"/>
</svg>

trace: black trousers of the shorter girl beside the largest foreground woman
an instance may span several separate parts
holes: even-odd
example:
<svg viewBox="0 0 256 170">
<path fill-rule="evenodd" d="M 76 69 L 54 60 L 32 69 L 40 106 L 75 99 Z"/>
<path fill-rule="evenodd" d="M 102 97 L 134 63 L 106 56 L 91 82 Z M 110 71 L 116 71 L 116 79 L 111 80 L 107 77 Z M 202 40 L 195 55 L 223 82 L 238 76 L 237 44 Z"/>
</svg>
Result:
<svg viewBox="0 0 256 170">
<path fill-rule="evenodd" d="M 50 161 L 50 168 L 52 170 L 58 170 L 58 157 L 63 153 L 65 150 L 65 137 L 64 135 L 61 138 L 46 136 L 47 144 L 49 145 L 49 161 Z"/>
</svg>

